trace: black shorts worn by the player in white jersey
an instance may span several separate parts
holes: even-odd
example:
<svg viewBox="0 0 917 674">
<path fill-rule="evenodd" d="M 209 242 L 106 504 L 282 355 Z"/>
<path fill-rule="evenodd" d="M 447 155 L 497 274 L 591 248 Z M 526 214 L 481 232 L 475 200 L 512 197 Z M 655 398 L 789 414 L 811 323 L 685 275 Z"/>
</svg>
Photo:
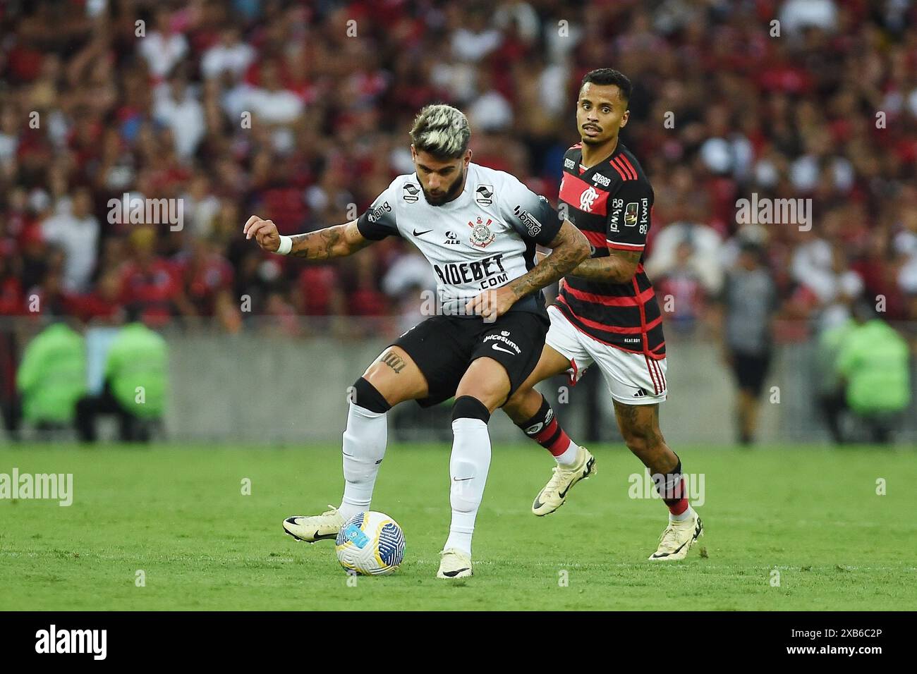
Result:
<svg viewBox="0 0 917 674">
<path fill-rule="evenodd" d="M 429 407 L 456 394 L 471 361 L 483 356 L 503 365 L 510 378 L 509 396 L 535 370 L 550 321 L 528 311 L 511 311 L 493 323 L 468 316 L 436 315 L 398 337 L 401 347 L 424 373 L 428 395 L 417 401 Z"/>
</svg>

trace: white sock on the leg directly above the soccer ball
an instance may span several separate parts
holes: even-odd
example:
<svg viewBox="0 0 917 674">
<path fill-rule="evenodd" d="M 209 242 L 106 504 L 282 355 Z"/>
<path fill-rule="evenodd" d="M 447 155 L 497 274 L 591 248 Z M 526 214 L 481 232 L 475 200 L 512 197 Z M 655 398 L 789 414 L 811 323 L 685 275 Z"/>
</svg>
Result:
<svg viewBox="0 0 917 674">
<path fill-rule="evenodd" d="M 337 509 L 345 521 L 370 509 L 387 440 L 386 413 L 350 403 L 343 445 L 344 498 Z"/>
</svg>

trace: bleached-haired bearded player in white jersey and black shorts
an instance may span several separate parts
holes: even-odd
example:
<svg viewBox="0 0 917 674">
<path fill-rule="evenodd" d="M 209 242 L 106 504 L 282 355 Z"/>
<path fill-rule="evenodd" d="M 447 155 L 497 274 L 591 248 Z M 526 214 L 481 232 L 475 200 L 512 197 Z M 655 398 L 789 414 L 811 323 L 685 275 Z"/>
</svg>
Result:
<svg viewBox="0 0 917 674">
<path fill-rule="evenodd" d="M 472 573 L 471 535 L 491 462 L 487 424 L 541 355 L 549 325 L 541 288 L 589 256 L 586 238 L 547 199 L 509 173 L 471 163 L 470 136 L 458 109 L 427 105 L 411 130 L 416 171 L 395 178 L 357 220 L 294 237 L 257 216 L 245 225 L 262 249 L 305 260 L 402 237 L 433 266 L 441 310 L 385 348 L 354 384 L 340 505 L 288 517 L 283 529 L 310 543 L 335 538 L 350 517 L 370 510 L 392 405 L 429 406 L 454 396 L 452 521 L 437 578 Z M 537 262 L 536 244 L 552 249 Z"/>
</svg>

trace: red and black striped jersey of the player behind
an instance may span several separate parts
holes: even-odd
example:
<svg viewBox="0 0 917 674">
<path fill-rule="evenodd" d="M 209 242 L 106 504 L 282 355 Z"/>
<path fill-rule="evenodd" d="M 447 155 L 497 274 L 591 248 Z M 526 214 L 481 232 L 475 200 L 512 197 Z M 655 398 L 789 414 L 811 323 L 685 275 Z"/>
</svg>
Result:
<svg viewBox="0 0 917 674">
<path fill-rule="evenodd" d="M 590 169 L 581 160 L 580 144 L 564 154 L 562 212 L 566 210 L 564 215 L 589 239 L 593 258 L 607 257 L 609 249 L 642 253 L 652 217 L 653 188 L 640 163 L 620 140 L 610 157 Z M 634 278 L 625 283 L 566 276 L 557 307 L 590 337 L 651 359 L 665 358 L 662 313 L 653 284 L 646 278 L 642 254 Z"/>
</svg>

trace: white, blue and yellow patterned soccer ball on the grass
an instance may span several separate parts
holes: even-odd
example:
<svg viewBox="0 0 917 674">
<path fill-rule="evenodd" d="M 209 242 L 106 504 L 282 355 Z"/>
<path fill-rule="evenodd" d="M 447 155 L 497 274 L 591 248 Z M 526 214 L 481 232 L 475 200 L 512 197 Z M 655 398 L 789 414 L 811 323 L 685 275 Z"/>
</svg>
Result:
<svg viewBox="0 0 917 674">
<path fill-rule="evenodd" d="M 337 532 L 335 552 L 348 573 L 384 576 L 402 563 L 404 532 L 387 514 L 355 514 Z"/>
</svg>

